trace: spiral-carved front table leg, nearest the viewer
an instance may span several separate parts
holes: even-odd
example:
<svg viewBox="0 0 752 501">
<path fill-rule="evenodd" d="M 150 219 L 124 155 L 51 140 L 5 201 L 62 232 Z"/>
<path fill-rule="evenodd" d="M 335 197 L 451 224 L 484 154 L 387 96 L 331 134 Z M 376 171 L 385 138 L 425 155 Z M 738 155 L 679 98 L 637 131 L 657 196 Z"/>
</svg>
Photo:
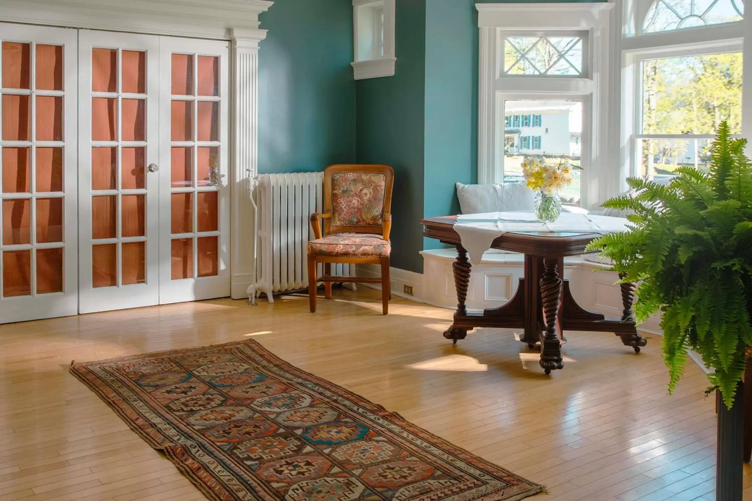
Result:
<svg viewBox="0 0 752 501">
<path fill-rule="evenodd" d="M 562 296 L 562 279 L 557 272 L 558 260 L 543 260 L 543 277 L 541 278 L 541 301 L 543 302 L 543 317 L 546 330 L 541 342 L 541 367 L 546 374 L 553 369 L 563 369 L 561 341 L 556 330 L 556 317 L 559 314 L 559 303 Z M 563 271 L 563 270 L 562 270 Z"/>
</svg>

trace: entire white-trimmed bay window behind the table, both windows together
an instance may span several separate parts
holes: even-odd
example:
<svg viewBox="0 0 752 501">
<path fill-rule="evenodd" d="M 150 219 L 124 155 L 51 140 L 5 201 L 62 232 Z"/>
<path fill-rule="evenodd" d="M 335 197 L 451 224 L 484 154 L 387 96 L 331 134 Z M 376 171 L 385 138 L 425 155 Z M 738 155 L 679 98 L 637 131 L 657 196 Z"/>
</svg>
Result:
<svg viewBox="0 0 752 501">
<path fill-rule="evenodd" d="M 752 140 L 744 0 L 476 8 L 480 183 L 522 182 L 528 155 L 566 158 L 582 170 L 562 201 L 597 209 L 627 177 L 708 169 L 723 120 Z"/>
</svg>

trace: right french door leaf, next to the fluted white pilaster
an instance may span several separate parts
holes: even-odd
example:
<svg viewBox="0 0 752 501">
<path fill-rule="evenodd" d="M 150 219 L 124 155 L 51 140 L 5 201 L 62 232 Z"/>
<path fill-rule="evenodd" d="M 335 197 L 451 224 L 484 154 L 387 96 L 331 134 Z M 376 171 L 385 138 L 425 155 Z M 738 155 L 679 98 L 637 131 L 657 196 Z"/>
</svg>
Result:
<svg viewBox="0 0 752 501">
<path fill-rule="evenodd" d="M 159 44 L 159 302 L 229 296 L 229 44 Z"/>
</svg>

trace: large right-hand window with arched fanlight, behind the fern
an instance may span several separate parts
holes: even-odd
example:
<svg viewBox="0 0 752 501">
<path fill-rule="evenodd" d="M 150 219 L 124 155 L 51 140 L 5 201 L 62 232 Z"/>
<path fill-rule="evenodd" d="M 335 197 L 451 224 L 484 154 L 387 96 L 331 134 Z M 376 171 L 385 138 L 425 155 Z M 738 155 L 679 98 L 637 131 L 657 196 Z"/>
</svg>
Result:
<svg viewBox="0 0 752 501">
<path fill-rule="evenodd" d="M 632 0 L 622 15 L 622 179 L 666 183 L 681 165 L 707 170 L 718 124 L 741 137 L 752 121 L 743 2 Z"/>
</svg>

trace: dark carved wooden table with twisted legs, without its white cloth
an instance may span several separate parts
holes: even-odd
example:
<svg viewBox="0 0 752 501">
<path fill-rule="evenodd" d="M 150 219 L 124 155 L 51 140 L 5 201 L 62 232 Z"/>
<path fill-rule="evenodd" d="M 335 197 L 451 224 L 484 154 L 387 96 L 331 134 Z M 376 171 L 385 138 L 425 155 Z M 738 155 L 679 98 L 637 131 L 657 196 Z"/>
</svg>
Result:
<svg viewBox="0 0 752 501">
<path fill-rule="evenodd" d="M 569 281 L 562 280 L 564 257 L 578 256 L 598 233 L 574 232 L 509 232 L 493 241 L 491 248 L 511 250 L 525 255 L 524 278 L 520 278 L 514 298 L 500 308 L 468 313 L 465 307 L 471 264 L 467 250 L 462 247 L 454 231 L 456 216 L 426 217 L 421 220 L 423 236 L 436 238 L 457 247 L 453 263 L 454 285 L 457 292 L 457 310 L 452 326 L 444 331 L 444 338 L 465 339 L 475 327 L 523 329 L 521 342 L 530 348 L 541 348 L 540 365 L 546 372 L 562 369 L 561 345 L 566 342 L 564 330 L 614 332 L 625 346 L 636 353 L 647 345 L 637 332 L 632 303 L 635 284 L 621 284 L 623 312 L 621 318 L 608 319 L 603 314 L 581 308 L 569 291 Z"/>
</svg>

